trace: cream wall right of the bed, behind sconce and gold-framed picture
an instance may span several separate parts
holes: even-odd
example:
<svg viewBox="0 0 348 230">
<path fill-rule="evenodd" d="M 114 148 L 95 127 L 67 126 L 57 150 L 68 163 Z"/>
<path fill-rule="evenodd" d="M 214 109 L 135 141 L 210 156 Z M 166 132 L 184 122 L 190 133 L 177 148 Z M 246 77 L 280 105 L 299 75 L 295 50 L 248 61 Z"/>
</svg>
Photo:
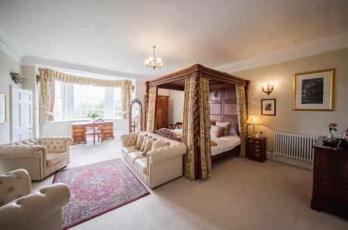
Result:
<svg viewBox="0 0 348 230">
<path fill-rule="evenodd" d="M 292 111 L 292 77 L 296 72 L 335 68 L 335 105 L 333 112 Z M 274 131 L 301 135 L 327 135 L 326 123 L 338 123 L 338 129 L 348 128 L 348 49 L 310 56 L 294 61 L 233 72 L 251 80 L 249 114 L 259 114 L 263 125 L 256 131 L 267 136 L 267 151 L 273 147 Z M 271 95 L 263 93 L 262 84 L 274 82 Z M 261 116 L 261 99 L 276 98 L 276 116 Z M 249 127 L 249 133 L 252 127 Z M 335 134 L 336 136 L 338 133 Z"/>
</svg>

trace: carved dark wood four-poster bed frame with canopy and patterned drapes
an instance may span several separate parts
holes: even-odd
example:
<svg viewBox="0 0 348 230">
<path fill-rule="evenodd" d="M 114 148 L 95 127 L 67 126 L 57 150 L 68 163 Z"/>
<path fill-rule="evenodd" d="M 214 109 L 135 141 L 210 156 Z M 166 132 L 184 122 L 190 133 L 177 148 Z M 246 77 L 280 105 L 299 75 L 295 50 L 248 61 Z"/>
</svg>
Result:
<svg viewBox="0 0 348 230">
<path fill-rule="evenodd" d="M 190 180 L 209 178 L 212 160 L 239 152 L 245 156 L 248 87 L 246 79 L 196 64 L 145 83 L 145 130 L 155 132 L 158 89 L 184 91 L 182 142 L 187 145 L 184 175 Z M 229 122 L 240 136 L 240 146 L 212 157 L 210 124 Z M 168 132 L 169 131 L 169 132 Z M 157 134 L 170 134 L 170 130 Z M 165 133 L 164 133 L 165 132 Z M 175 133 L 173 132 L 175 135 Z M 171 134 L 173 136 L 173 134 Z M 173 138 L 178 138 L 173 136 Z"/>
</svg>

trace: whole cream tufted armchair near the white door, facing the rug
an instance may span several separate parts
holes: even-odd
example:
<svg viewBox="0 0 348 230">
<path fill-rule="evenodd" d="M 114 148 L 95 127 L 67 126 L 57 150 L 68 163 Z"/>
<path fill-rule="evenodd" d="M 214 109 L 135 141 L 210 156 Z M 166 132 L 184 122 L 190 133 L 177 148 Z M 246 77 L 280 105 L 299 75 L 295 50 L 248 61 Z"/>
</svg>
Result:
<svg viewBox="0 0 348 230">
<path fill-rule="evenodd" d="M 0 145 L 0 173 L 26 169 L 41 181 L 70 162 L 72 137 L 40 137 Z"/>
</svg>

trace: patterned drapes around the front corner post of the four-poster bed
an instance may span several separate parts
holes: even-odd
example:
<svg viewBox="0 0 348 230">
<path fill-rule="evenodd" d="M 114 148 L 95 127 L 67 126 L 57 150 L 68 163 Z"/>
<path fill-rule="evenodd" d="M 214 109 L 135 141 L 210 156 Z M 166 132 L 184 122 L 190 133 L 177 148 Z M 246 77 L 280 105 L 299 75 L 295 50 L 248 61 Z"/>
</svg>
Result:
<svg viewBox="0 0 348 230">
<path fill-rule="evenodd" d="M 195 88 L 198 81 L 199 88 L 199 139 L 198 156 L 195 156 L 194 145 L 194 116 L 195 116 Z M 189 180 L 209 178 L 212 172 L 212 155 L 210 149 L 209 130 L 209 79 L 206 77 L 189 77 L 185 80 L 184 116 L 182 124 L 182 141 L 187 145 L 184 158 L 184 176 Z"/>
</svg>

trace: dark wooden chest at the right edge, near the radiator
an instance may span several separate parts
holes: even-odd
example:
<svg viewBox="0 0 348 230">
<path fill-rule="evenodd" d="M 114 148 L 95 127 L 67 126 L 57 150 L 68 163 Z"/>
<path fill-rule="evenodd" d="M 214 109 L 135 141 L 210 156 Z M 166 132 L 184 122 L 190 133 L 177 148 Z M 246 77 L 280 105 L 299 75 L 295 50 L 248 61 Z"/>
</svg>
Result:
<svg viewBox="0 0 348 230">
<path fill-rule="evenodd" d="M 314 144 L 313 197 L 310 208 L 348 220 L 348 149 Z"/>
</svg>

